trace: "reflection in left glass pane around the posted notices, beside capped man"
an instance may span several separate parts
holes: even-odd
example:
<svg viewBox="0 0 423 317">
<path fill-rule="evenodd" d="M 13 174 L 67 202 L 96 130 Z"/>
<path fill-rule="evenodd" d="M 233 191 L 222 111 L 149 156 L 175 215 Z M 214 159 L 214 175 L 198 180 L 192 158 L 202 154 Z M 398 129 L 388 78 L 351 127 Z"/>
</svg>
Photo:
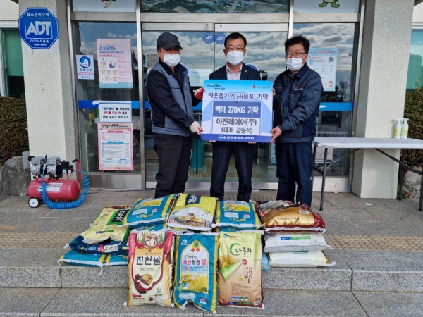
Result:
<svg viewBox="0 0 423 317">
<path fill-rule="evenodd" d="M 75 23 L 75 54 L 94 56 L 95 80 L 77 80 L 78 101 L 88 101 L 84 106 L 79 106 L 80 139 L 82 147 L 82 165 L 88 172 L 99 172 L 99 151 L 97 122 L 98 109 L 92 107 L 94 100 L 104 101 L 137 101 L 140 99 L 138 89 L 138 61 L 137 61 L 137 27 L 136 23 Z M 133 89 L 100 89 L 97 63 L 97 39 L 130 39 L 132 66 L 133 66 Z M 132 110 L 133 117 L 133 160 L 134 171 L 140 172 L 140 110 Z M 108 173 L 132 173 L 111 172 Z"/>
</svg>

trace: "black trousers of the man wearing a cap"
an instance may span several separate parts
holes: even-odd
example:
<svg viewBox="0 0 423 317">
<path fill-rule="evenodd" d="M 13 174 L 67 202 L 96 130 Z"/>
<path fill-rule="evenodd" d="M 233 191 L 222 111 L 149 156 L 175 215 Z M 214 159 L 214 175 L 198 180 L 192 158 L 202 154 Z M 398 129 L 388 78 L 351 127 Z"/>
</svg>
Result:
<svg viewBox="0 0 423 317">
<path fill-rule="evenodd" d="M 154 197 L 183 193 L 190 169 L 191 137 L 154 133 L 154 151 L 159 158 Z"/>
</svg>

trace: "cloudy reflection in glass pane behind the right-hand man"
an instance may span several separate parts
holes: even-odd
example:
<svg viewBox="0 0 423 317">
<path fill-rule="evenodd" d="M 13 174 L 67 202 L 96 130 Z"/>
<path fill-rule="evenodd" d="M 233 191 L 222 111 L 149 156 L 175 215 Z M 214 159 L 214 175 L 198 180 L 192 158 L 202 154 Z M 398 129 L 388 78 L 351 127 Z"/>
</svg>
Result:
<svg viewBox="0 0 423 317">
<path fill-rule="evenodd" d="M 350 137 L 354 96 L 355 24 L 354 23 L 295 23 L 294 35 L 304 35 L 312 48 L 338 48 L 338 67 L 334 92 L 324 92 L 321 111 L 317 116 L 317 137 Z M 345 111 L 345 108 L 348 111 Z M 330 109 L 329 111 L 326 109 Z M 332 159 L 348 150 L 333 149 Z M 348 175 L 348 158 L 333 163 L 329 175 Z M 319 175 L 319 174 L 316 174 Z"/>
</svg>

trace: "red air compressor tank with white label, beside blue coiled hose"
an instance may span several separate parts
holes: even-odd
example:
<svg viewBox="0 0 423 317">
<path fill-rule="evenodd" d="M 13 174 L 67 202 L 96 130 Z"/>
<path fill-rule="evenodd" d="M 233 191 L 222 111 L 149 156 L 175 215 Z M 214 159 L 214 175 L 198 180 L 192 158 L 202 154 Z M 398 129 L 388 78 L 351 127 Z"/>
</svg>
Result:
<svg viewBox="0 0 423 317">
<path fill-rule="evenodd" d="M 78 180 L 52 180 L 44 178 L 47 183 L 47 196 L 51 201 L 75 201 L 78 199 L 81 187 Z M 39 187 L 41 187 L 41 178 L 36 178 L 28 185 L 28 196 L 41 200 Z"/>
</svg>

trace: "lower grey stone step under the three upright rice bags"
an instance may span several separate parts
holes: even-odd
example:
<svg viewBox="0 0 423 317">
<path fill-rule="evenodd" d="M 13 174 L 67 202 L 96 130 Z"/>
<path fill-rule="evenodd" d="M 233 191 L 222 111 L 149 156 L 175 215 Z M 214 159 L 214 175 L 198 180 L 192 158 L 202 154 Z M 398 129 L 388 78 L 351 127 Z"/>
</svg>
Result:
<svg viewBox="0 0 423 317">
<path fill-rule="evenodd" d="M 128 290 L 116 288 L 0 288 L 0 316 L 213 316 L 188 304 L 123 306 Z M 423 316 L 423 293 L 264 290 L 265 309 L 218 307 L 217 316 Z M 214 315 L 214 316 L 216 316 Z"/>
</svg>

